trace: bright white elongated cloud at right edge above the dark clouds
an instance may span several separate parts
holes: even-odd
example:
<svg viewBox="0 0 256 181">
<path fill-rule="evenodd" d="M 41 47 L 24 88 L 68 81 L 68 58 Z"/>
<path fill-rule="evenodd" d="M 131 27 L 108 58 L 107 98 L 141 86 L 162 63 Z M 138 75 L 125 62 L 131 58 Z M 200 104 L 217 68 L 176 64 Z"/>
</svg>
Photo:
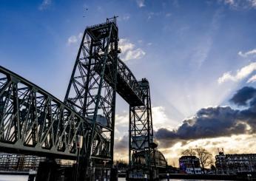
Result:
<svg viewBox="0 0 256 181">
<path fill-rule="evenodd" d="M 224 83 L 226 81 L 241 81 L 244 78 L 247 78 L 252 72 L 256 70 L 256 62 L 252 62 L 243 68 L 238 69 L 235 75 L 232 75 L 231 72 L 225 72 L 223 75 L 218 78 L 218 83 Z"/>
</svg>

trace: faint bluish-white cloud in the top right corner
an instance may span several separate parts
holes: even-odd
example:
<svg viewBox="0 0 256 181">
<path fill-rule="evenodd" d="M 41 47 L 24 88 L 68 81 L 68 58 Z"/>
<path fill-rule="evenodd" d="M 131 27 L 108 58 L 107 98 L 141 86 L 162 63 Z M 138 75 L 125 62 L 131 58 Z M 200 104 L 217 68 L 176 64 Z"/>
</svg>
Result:
<svg viewBox="0 0 256 181">
<path fill-rule="evenodd" d="M 220 0 L 224 4 L 228 5 L 232 9 L 255 9 L 256 8 L 256 0 Z"/>
</svg>

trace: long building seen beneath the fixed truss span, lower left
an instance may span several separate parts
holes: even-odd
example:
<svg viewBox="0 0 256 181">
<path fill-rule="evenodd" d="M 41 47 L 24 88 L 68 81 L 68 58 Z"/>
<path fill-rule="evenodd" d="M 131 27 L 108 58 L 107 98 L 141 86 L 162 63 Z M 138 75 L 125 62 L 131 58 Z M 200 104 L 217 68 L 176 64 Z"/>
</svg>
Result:
<svg viewBox="0 0 256 181">
<path fill-rule="evenodd" d="M 44 157 L 0 153 L 0 171 L 36 171 L 41 160 Z"/>
</svg>

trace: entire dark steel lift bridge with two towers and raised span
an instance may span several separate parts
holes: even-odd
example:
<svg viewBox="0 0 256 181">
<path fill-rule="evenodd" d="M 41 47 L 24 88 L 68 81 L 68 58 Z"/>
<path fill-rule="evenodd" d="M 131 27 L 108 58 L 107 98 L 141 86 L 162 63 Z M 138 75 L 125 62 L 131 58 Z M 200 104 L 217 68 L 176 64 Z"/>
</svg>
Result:
<svg viewBox="0 0 256 181">
<path fill-rule="evenodd" d="M 0 151 L 78 158 L 78 180 L 109 174 L 117 92 L 129 103 L 129 175 L 153 177 L 166 160 L 153 142 L 149 82 L 137 81 L 118 53 L 116 17 L 87 27 L 64 102 L 0 66 Z"/>
</svg>

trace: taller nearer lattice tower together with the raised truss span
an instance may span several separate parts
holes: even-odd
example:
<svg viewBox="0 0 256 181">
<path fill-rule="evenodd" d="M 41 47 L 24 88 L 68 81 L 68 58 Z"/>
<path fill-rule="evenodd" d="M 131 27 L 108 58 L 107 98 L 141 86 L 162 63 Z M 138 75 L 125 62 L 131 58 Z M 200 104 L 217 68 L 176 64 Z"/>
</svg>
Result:
<svg viewBox="0 0 256 181">
<path fill-rule="evenodd" d="M 144 104 L 144 92 L 127 65 L 118 58 L 119 52 L 115 17 L 104 24 L 87 27 L 64 100 L 92 123 L 89 146 L 93 164 L 106 164 L 108 159 L 112 165 L 116 92 L 132 106 Z M 93 131 L 96 128 L 106 138 L 101 146 Z"/>
</svg>

